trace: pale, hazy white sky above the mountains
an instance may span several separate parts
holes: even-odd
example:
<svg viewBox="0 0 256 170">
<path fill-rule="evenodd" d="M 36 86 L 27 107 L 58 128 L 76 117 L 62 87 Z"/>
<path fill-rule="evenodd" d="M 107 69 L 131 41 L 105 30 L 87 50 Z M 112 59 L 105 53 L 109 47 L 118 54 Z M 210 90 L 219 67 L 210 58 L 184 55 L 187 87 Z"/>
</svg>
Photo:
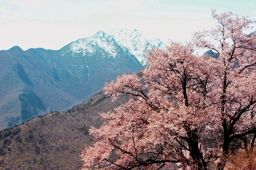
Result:
<svg viewBox="0 0 256 170">
<path fill-rule="evenodd" d="M 99 30 L 123 27 L 163 42 L 187 41 L 214 26 L 211 9 L 256 19 L 256 0 L 0 0 L 0 50 L 58 50 Z"/>
</svg>

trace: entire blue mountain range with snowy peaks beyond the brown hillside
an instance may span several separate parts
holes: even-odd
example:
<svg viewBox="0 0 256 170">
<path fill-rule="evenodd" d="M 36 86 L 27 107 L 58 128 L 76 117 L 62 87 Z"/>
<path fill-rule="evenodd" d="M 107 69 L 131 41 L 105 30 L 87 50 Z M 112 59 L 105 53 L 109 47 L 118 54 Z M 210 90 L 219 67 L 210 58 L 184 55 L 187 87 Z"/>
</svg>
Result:
<svg viewBox="0 0 256 170">
<path fill-rule="evenodd" d="M 0 51 L 0 129 L 73 104 L 100 92 L 106 82 L 146 65 L 147 50 L 161 48 L 135 29 L 99 31 L 60 50 Z"/>
</svg>

